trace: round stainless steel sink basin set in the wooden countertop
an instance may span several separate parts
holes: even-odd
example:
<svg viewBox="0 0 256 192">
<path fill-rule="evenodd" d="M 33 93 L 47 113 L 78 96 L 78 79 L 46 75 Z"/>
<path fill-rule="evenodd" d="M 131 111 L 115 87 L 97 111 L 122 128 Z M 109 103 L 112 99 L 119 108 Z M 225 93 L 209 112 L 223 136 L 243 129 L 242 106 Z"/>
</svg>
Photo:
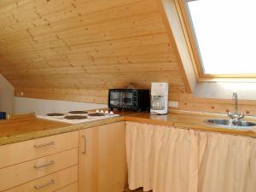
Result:
<svg viewBox="0 0 256 192">
<path fill-rule="evenodd" d="M 234 121 L 232 119 L 207 119 L 207 124 L 212 125 L 219 125 L 224 126 L 226 128 L 235 128 L 235 129 L 246 129 L 249 130 L 256 126 L 256 123 L 245 121 L 245 120 L 238 120 Z"/>
</svg>

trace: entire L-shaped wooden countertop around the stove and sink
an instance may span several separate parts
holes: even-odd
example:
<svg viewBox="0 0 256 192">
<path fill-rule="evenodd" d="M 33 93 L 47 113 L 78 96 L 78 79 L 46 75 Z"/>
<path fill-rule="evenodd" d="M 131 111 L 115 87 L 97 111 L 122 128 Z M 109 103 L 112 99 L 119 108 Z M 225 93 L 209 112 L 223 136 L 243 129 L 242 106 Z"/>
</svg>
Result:
<svg viewBox="0 0 256 192">
<path fill-rule="evenodd" d="M 169 113 L 152 115 L 149 113 L 121 112 L 119 117 L 91 121 L 79 125 L 71 125 L 57 121 L 38 119 L 35 116 L 0 121 L 0 145 L 22 142 L 38 137 L 47 137 L 69 131 L 78 131 L 99 125 L 107 125 L 119 121 L 133 121 L 163 126 L 175 126 L 199 131 L 215 131 L 225 134 L 256 137 L 256 129 L 250 131 L 227 129 L 207 125 L 204 120 L 210 118 L 227 118 L 224 115 L 205 113 Z M 252 120 L 252 119 L 251 119 Z M 255 119 L 253 121 L 256 121 Z"/>
</svg>

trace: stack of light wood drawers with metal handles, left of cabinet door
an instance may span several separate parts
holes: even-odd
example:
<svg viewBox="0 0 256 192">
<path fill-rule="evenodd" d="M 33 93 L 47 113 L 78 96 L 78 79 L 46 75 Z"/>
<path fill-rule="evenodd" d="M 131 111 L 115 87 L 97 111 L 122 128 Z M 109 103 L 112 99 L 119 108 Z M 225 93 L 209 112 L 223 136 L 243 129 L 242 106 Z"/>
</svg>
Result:
<svg viewBox="0 0 256 192">
<path fill-rule="evenodd" d="M 79 131 L 0 146 L 0 191 L 77 192 L 78 147 Z"/>
</svg>

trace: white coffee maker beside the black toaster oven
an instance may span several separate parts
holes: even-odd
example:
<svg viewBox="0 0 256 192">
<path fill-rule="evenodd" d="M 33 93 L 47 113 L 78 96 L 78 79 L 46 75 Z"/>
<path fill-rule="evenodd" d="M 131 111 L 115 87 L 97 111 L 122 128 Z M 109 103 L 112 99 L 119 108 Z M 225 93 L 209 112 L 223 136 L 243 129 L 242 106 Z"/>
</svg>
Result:
<svg viewBox="0 0 256 192">
<path fill-rule="evenodd" d="M 168 83 L 151 83 L 150 113 L 168 113 Z"/>
</svg>

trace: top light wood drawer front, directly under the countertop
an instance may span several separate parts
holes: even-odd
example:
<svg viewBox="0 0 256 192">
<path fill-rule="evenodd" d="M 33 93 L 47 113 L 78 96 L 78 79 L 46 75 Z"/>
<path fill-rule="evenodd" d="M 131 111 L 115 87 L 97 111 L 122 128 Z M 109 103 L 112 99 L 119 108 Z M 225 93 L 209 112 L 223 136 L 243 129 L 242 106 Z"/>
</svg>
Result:
<svg viewBox="0 0 256 192">
<path fill-rule="evenodd" d="M 79 131 L 0 146 L 0 168 L 79 146 Z"/>
</svg>

